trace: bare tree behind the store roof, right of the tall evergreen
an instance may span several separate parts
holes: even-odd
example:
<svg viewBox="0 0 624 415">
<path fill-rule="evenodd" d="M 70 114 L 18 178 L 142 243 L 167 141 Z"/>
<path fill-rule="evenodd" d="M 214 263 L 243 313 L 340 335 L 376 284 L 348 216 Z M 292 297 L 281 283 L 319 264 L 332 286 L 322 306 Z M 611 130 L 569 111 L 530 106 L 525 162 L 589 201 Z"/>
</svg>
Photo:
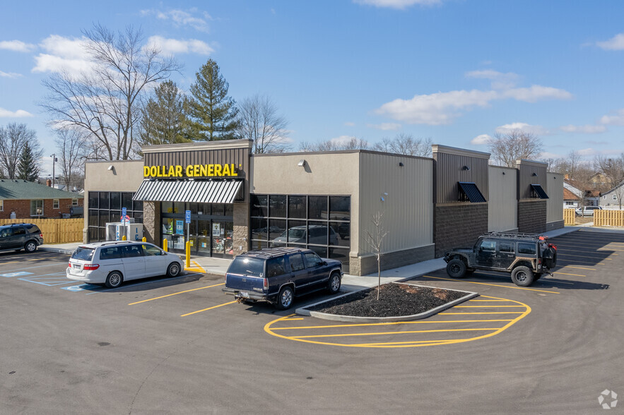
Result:
<svg viewBox="0 0 624 415">
<path fill-rule="evenodd" d="M 266 95 L 253 95 L 239 106 L 237 135 L 254 141 L 254 153 L 284 152 L 288 121 L 278 114 L 277 105 Z"/>
</svg>

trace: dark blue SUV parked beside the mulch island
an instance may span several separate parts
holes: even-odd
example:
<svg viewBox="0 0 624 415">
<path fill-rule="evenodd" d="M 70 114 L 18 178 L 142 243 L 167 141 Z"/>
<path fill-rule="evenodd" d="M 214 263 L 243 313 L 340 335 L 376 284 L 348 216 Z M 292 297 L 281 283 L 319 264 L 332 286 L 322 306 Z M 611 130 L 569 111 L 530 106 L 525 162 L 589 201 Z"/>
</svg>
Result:
<svg viewBox="0 0 624 415">
<path fill-rule="evenodd" d="M 342 275 L 340 261 L 321 258 L 310 249 L 265 248 L 232 260 L 223 292 L 239 301 L 269 301 L 285 310 L 295 296 L 322 289 L 336 294 Z"/>
</svg>

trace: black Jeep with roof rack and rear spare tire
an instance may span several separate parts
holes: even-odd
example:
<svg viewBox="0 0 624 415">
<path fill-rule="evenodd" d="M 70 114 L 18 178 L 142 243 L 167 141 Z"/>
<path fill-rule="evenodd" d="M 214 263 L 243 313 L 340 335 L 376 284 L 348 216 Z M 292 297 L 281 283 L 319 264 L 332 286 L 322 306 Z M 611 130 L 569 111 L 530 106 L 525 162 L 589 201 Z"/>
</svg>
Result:
<svg viewBox="0 0 624 415">
<path fill-rule="evenodd" d="M 472 248 L 453 249 L 444 259 L 453 278 L 475 270 L 511 272 L 514 284 L 527 287 L 555 267 L 557 247 L 538 234 L 489 232 Z"/>
</svg>

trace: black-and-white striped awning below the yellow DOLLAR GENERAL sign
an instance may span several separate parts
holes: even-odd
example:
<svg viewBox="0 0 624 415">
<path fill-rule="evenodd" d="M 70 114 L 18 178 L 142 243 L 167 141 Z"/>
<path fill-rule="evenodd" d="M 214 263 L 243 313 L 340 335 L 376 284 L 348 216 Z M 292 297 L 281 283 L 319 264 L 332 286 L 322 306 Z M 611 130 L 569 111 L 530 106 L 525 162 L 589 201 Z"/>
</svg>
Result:
<svg viewBox="0 0 624 415">
<path fill-rule="evenodd" d="M 242 180 L 143 180 L 134 200 L 151 202 L 233 203 Z"/>
</svg>

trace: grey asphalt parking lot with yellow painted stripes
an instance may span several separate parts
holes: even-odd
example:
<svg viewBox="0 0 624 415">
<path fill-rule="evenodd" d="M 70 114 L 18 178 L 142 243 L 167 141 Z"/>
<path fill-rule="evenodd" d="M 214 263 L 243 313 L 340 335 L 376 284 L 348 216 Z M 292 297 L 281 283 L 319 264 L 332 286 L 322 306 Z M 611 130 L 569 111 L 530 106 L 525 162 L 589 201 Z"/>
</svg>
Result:
<svg viewBox="0 0 624 415">
<path fill-rule="evenodd" d="M 480 296 L 385 325 L 232 302 L 199 272 L 106 289 L 66 279 L 68 255 L 0 253 L 0 411 L 599 413 L 624 393 L 624 232 L 551 241 L 553 277 L 432 272 L 412 282 Z"/>
</svg>

